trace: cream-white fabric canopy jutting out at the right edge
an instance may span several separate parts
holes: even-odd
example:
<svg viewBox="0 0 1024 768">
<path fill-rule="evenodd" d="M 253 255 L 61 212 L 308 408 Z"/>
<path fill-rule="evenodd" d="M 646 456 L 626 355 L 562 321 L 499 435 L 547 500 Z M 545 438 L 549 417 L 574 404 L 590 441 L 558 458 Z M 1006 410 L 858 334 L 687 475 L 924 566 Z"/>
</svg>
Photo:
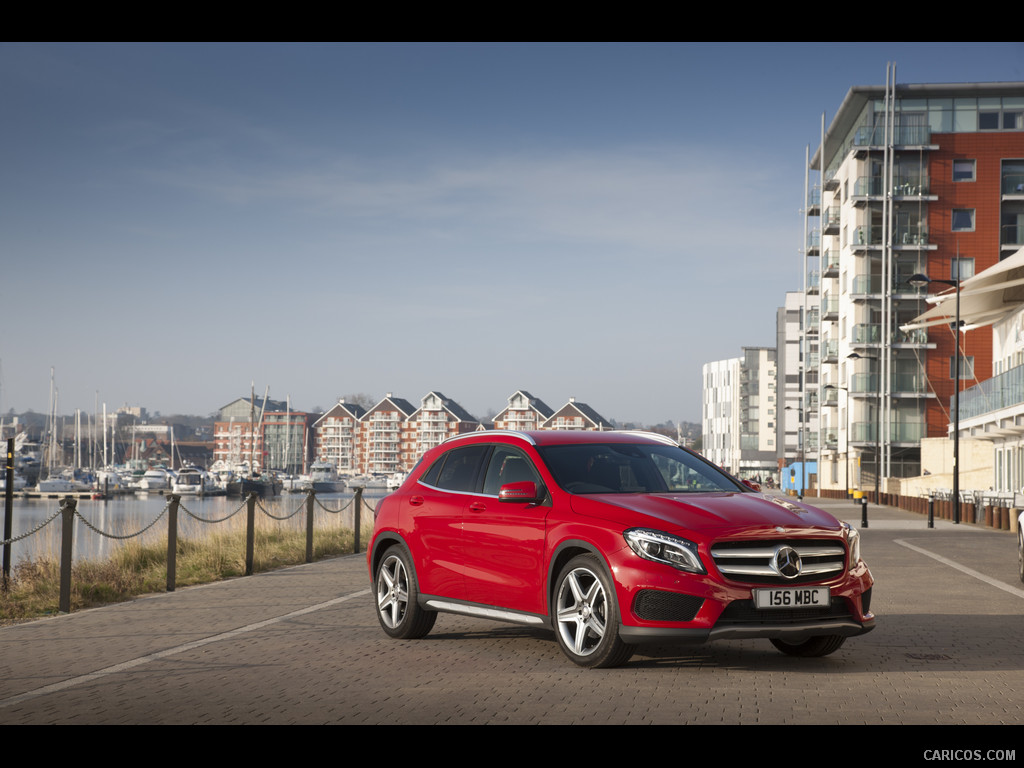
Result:
<svg viewBox="0 0 1024 768">
<path fill-rule="evenodd" d="M 955 289 L 929 296 L 928 302 L 935 306 L 902 326 L 903 331 L 955 322 Z M 961 284 L 962 326 L 988 326 L 1021 307 L 1024 307 L 1024 248 Z"/>
</svg>

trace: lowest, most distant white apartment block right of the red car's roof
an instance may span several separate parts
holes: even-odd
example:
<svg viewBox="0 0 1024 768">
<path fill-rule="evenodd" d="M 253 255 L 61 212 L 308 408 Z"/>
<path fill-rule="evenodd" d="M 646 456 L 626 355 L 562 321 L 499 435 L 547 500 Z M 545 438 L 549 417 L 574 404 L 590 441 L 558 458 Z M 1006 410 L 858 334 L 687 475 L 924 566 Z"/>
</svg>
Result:
<svg viewBox="0 0 1024 768">
<path fill-rule="evenodd" d="M 774 477 L 776 362 L 773 347 L 743 347 L 739 357 L 703 366 L 705 458 L 743 479 Z"/>
</svg>

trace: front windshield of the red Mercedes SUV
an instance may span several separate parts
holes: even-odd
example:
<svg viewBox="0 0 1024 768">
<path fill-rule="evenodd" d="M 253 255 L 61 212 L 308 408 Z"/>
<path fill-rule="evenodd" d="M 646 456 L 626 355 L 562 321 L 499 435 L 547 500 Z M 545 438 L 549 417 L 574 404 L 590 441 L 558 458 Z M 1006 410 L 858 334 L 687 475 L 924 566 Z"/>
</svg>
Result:
<svg viewBox="0 0 1024 768">
<path fill-rule="evenodd" d="M 538 450 L 555 480 L 570 494 L 746 490 L 699 457 L 672 445 L 545 445 Z"/>
</svg>

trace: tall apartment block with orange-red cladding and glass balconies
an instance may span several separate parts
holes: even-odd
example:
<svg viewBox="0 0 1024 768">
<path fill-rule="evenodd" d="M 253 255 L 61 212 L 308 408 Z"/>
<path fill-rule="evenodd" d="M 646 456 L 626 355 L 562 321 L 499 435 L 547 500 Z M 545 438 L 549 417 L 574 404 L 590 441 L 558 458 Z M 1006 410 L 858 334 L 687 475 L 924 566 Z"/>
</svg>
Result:
<svg viewBox="0 0 1024 768">
<path fill-rule="evenodd" d="M 922 438 L 947 434 L 957 334 L 901 330 L 949 290 L 910 278 L 967 279 L 1024 242 L 1024 83 L 887 81 L 822 119 L 805 181 L 802 396 L 824 488 L 922 473 Z M 991 375 L 992 336 L 958 336 L 966 388 Z"/>
</svg>

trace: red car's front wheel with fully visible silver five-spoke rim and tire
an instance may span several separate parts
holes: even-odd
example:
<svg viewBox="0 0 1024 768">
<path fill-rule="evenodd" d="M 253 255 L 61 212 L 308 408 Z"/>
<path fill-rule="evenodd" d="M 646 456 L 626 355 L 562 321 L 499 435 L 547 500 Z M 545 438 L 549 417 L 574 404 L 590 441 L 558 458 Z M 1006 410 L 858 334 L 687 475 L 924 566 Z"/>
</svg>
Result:
<svg viewBox="0 0 1024 768">
<path fill-rule="evenodd" d="M 618 667 L 636 650 L 618 636 L 615 586 L 595 555 L 574 557 L 562 568 L 552 612 L 562 652 L 580 667 Z"/>
</svg>

